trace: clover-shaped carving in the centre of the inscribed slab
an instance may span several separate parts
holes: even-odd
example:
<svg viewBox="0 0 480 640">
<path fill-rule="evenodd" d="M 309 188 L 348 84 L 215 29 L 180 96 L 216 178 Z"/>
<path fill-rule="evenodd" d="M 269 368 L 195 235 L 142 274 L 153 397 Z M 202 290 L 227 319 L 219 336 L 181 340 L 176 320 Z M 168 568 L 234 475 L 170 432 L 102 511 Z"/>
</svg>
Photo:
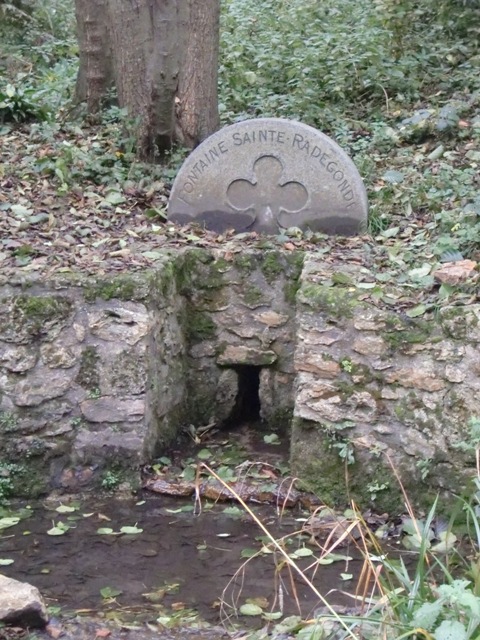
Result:
<svg viewBox="0 0 480 640">
<path fill-rule="evenodd" d="M 284 179 L 283 164 L 275 156 L 258 158 L 253 175 L 253 180 L 233 180 L 227 188 L 227 198 L 234 209 L 253 209 L 259 226 L 278 224 L 281 211 L 297 213 L 307 204 L 307 190 L 300 182 Z"/>
</svg>

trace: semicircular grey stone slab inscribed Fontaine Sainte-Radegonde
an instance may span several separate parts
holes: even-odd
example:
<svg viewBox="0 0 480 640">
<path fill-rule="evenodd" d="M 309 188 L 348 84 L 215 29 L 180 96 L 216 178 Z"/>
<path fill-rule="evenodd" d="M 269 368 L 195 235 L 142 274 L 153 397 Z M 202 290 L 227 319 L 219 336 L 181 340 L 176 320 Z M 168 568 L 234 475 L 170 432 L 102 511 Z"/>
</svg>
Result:
<svg viewBox="0 0 480 640">
<path fill-rule="evenodd" d="M 168 204 L 169 220 L 218 232 L 355 235 L 367 213 L 348 155 L 313 127 L 280 118 L 245 120 L 207 138 L 181 167 Z"/>
</svg>

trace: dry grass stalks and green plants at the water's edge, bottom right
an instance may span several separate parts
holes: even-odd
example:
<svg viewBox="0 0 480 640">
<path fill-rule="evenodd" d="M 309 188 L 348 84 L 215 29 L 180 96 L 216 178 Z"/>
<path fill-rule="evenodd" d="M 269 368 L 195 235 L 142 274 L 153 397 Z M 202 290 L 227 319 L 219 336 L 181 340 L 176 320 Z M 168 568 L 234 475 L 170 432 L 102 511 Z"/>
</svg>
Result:
<svg viewBox="0 0 480 640">
<path fill-rule="evenodd" d="M 470 421 L 471 442 L 465 443 L 476 459 L 474 488 L 468 498 L 458 500 L 449 519 L 440 514 L 437 500 L 425 516 L 417 515 L 390 460 L 407 511 L 401 525 L 397 526 L 385 523 L 372 528 L 371 514 L 362 514 L 360 507 L 352 503 L 344 514 L 335 514 L 328 507 L 320 507 L 301 529 L 277 539 L 230 487 L 229 491 L 264 535 L 260 538 L 261 548 L 246 556 L 224 590 L 221 601 L 224 622 L 231 622 L 238 616 L 261 617 L 265 626 L 247 634 L 245 638 L 248 640 L 276 637 L 301 640 L 478 640 L 479 424 L 476 418 Z M 212 469 L 203 466 L 228 489 L 228 484 Z M 402 542 L 403 552 L 395 549 L 392 540 L 386 537 L 388 528 L 391 535 Z M 249 598 L 249 594 L 242 593 L 242 576 L 248 565 L 255 563 L 259 556 L 272 558 L 275 584 L 272 602 L 266 598 Z M 357 577 L 346 573 L 352 556 L 363 560 Z M 323 566 L 338 561 L 345 564 L 345 572 L 341 574 L 345 588 L 341 593 L 351 602 L 347 608 L 330 604 L 336 589 L 322 594 L 316 586 Z M 317 599 L 318 606 L 313 611 L 302 609 L 302 585 Z M 284 616 L 287 598 L 296 604 L 298 615 Z"/>
</svg>

